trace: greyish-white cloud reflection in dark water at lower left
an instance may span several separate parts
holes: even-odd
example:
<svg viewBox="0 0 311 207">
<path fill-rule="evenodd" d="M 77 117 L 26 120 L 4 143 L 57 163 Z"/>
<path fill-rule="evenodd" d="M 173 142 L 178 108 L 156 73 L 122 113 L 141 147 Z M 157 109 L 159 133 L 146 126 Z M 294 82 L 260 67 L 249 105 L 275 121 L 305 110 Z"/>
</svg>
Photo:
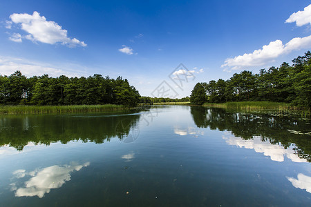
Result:
<svg viewBox="0 0 311 207">
<path fill-rule="evenodd" d="M 44 197 L 44 194 L 50 193 L 50 189 L 60 188 L 66 181 L 70 181 L 70 172 L 79 171 L 89 164 L 89 162 L 86 162 L 81 165 L 55 165 L 32 172 L 26 172 L 26 170 L 23 169 L 16 170 L 15 172 L 12 172 L 12 174 L 15 175 L 17 179 L 25 176 L 30 176 L 31 178 L 25 182 L 24 188 L 17 188 L 16 183 L 11 184 L 12 190 L 15 190 L 15 196 L 17 197 Z"/>
</svg>

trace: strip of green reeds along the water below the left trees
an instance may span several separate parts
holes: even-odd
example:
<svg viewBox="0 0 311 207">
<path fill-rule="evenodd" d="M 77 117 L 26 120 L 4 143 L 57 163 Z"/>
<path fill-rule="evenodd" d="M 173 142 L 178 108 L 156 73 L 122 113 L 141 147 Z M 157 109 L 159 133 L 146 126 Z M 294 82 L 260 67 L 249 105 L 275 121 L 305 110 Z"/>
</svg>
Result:
<svg viewBox="0 0 311 207">
<path fill-rule="evenodd" d="M 47 114 L 72 112 L 115 112 L 129 109 L 126 106 L 105 105 L 71 105 L 71 106 L 0 106 L 0 115 Z"/>
</svg>

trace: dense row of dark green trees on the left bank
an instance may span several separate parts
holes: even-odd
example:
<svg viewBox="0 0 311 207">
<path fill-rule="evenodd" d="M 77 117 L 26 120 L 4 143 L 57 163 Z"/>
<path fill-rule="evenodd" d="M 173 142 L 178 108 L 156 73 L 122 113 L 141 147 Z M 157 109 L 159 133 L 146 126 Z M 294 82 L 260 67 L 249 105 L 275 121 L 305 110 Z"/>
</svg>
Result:
<svg viewBox="0 0 311 207">
<path fill-rule="evenodd" d="M 10 76 L 0 75 L 1 105 L 93 105 L 122 104 L 136 106 L 140 94 L 127 79 L 93 75 L 90 77 L 53 78 L 48 75 L 27 78 L 19 70 Z"/>
</svg>

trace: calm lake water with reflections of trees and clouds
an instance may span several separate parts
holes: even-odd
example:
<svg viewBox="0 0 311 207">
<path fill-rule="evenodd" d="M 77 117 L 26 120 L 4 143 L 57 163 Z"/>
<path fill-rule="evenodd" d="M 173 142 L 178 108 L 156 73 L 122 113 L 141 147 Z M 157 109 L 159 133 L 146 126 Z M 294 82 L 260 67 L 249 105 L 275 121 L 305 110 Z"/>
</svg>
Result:
<svg viewBox="0 0 311 207">
<path fill-rule="evenodd" d="M 0 117 L 0 206 L 311 206 L 309 119 L 159 106 Z"/>
</svg>

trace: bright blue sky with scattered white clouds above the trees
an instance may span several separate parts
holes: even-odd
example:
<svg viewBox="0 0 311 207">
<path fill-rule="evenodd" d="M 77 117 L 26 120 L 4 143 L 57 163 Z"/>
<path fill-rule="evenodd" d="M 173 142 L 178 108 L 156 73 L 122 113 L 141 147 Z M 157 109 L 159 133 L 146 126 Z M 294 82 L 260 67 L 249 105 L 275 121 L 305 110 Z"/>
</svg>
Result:
<svg viewBox="0 0 311 207">
<path fill-rule="evenodd" d="M 0 75 L 121 76 L 142 96 L 186 97 L 311 50 L 310 3 L 0 1 Z"/>
</svg>

